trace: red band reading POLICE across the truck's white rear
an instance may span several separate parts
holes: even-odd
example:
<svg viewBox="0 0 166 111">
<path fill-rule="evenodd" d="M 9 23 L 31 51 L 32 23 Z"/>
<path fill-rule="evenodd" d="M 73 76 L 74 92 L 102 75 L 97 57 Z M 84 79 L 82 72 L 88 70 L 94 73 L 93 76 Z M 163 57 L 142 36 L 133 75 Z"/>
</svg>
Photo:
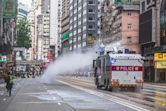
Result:
<svg viewBox="0 0 166 111">
<path fill-rule="evenodd" d="M 112 66 L 112 71 L 143 71 L 142 66 Z"/>
</svg>

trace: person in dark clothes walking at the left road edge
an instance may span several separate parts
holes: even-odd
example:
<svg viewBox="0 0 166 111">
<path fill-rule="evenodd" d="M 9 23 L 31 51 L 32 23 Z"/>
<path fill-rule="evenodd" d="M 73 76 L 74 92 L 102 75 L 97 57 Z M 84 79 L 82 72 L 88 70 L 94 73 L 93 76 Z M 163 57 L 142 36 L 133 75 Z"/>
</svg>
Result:
<svg viewBox="0 0 166 111">
<path fill-rule="evenodd" d="M 8 72 L 6 78 L 5 78 L 5 82 L 6 82 L 6 89 L 7 92 L 9 92 L 9 96 L 11 96 L 11 92 L 12 92 L 12 88 L 13 88 L 13 76 L 10 72 Z"/>
</svg>

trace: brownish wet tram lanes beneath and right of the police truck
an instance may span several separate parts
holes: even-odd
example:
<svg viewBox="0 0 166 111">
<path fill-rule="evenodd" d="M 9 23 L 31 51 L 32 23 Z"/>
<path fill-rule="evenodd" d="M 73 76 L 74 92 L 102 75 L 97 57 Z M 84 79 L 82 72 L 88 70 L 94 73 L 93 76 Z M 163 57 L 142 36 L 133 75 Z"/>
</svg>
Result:
<svg viewBox="0 0 166 111">
<path fill-rule="evenodd" d="M 110 92 L 110 91 L 96 89 L 96 86 L 94 85 L 94 80 L 91 78 L 63 77 L 60 79 L 64 82 L 67 82 L 67 84 L 72 84 L 73 86 L 79 86 L 84 89 L 89 89 L 91 90 L 91 92 L 92 91 L 93 93 L 95 92 L 96 95 L 100 95 L 100 93 L 102 93 L 102 97 L 104 95 L 108 97 L 107 99 L 109 99 L 109 97 L 112 98 L 113 100 L 114 98 L 116 98 L 118 101 L 115 100 L 114 102 L 125 105 L 127 107 L 129 106 L 132 107 L 132 105 L 135 105 L 150 111 L 166 111 L 165 86 L 145 83 L 143 89 L 141 89 L 140 92 L 123 91 L 123 90 L 117 92 Z M 134 107 L 132 108 L 135 109 Z"/>
</svg>

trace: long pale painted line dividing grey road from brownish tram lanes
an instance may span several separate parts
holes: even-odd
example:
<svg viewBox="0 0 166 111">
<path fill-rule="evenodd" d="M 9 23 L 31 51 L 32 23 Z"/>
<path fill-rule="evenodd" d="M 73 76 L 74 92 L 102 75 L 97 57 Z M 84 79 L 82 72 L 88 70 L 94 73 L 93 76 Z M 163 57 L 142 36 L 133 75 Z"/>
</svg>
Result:
<svg viewBox="0 0 166 111">
<path fill-rule="evenodd" d="M 115 102 L 115 103 L 117 103 L 117 104 L 126 106 L 126 107 L 131 108 L 131 109 L 136 110 L 136 111 L 150 111 L 150 110 L 148 110 L 148 109 L 144 109 L 144 108 L 141 108 L 141 107 L 139 107 L 139 106 L 136 106 L 136 105 L 127 103 L 127 102 L 124 101 L 123 99 L 118 98 L 118 97 L 114 97 L 114 96 L 109 95 L 109 94 L 104 94 L 104 93 L 97 92 L 97 91 L 93 91 L 93 90 L 90 90 L 90 89 L 85 89 L 85 88 L 82 88 L 82 87 L 78 87 L 78 86 L 76 86 L 76 85 L 72 85 L 72 84 L 70 84 L 70 83 L 67 83 L 67 82 L 64 82 L 64 81 L 61 81 L 61 80 L 57 80 L 57 81 L 58 81 L 58 82 L 61 82 L 61 83 L 63 83 L 63 84 L 66 84 L 66 85 L 68 85 L 68 86 L 71 86 L 71 87 L 73 87 L 73 88 L 76 88 L 76 89 L 85 91 L 85 92 L 87 92 L 87 93 L 90 93 L 90 94 L 93 94 L 93 95 L 102 97 L 102 98 L 104 98 L 104 99 L 107 99 L 107 100 L 109 100 L 109 101 Z"/>
</svg>

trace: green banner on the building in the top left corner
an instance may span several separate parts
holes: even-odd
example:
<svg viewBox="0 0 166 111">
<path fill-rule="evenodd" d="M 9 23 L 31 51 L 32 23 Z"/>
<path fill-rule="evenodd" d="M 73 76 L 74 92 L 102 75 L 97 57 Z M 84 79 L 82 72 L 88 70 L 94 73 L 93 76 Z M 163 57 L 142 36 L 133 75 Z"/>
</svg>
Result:
<svg viewBox="0 0 166 111">
<path fill-rule="evenodd" d="M 16 17 L 17 0 L 3 0 L 3 16 L 4 18 Z"/>
</svg>

